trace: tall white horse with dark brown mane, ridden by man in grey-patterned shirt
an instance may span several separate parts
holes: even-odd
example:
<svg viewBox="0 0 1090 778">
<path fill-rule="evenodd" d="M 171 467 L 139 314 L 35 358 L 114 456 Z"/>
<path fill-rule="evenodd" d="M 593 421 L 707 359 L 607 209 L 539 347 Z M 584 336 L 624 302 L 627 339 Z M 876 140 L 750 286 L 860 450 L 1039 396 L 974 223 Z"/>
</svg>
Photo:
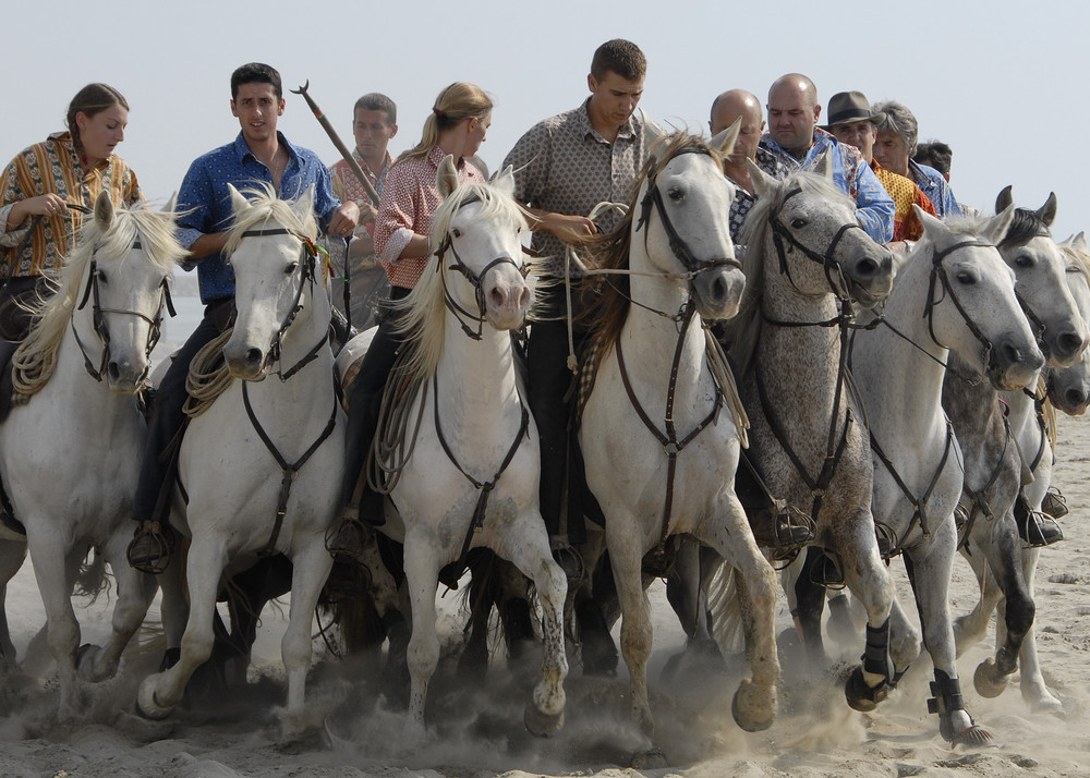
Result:
<svg viewBox="0 0 1090 778">
<path fill-rule="evenodd" d="M 730 151 L 737 129 L 727 132 L 712 146 L 685 134 L 661 142 L 635 205 L 608 241 L 606 267 L 628 277 L 604 293 L 579 429 L 586 483 L 606 520 L 632 716 L 649 737 L 653 636 L 641 560 L 679 535 L 714 548 L 744 582 L 752 678 L 735 694 L 735 720 L 764 729 L 777 707 L 775 576 L 734 493 L 744 413 L 725 361 L 710 357 L 702 324 L 734 316 L 744 287 L 727 229 L 734 185 L 719 155 Z"/>
</svg>

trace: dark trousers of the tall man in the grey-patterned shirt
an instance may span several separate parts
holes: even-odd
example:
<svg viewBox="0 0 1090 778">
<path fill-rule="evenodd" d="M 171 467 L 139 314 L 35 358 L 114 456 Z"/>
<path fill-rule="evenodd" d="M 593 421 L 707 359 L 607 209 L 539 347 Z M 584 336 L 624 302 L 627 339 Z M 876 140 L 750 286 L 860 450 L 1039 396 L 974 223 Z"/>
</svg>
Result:
<svg viewBox="0 0 1090 778">
<path fill-rule="evenodd" d="M 567 300 L 562 284 L 543 290 L 538 302 L 540 317 L 530 327 L 529 361 L 530 412 L 534 414 L 541 436 L 541 509 L 545 530 L 549 535 L 561 531 L 561 516 L 568 518 L 568 539 L 573 544 L 585 539 L 582 521 L 583 477 L 581 467 L 569 467 L 569 462 L 581 461 L 571 457 L 577 446 L 570 431 L 571 410 L 574 400 L 565 402 L 572 385 L 568 369 L 568 323 L 565 318 Z M 585 332 L 576 329 L 576 355 L 582 351 Z M 580 471 L 580 472 L 577 472 Z"/>
</svg>

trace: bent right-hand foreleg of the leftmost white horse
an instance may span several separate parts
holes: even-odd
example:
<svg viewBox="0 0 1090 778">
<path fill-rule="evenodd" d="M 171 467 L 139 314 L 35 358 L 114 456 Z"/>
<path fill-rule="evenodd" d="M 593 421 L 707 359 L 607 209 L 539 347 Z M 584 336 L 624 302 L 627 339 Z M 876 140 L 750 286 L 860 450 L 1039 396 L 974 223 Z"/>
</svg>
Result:
<svg viewBox="0 0 1090 778">
<path fill-rule="evenodd" d="M 113 570 L 118 584 L 118 600 L 113 606 L 110 639 L 102 648 L 85 645 L 80 648 L 78 672 L 85 681 L 99 682 L 112 678 L 121 664 L 121 654 L 144 623 L 157 588 L 154 575 L 129 567 L 125 548 L 130 533 L 116 532 L 106 547 L 106 561 Z"/>
</svg>

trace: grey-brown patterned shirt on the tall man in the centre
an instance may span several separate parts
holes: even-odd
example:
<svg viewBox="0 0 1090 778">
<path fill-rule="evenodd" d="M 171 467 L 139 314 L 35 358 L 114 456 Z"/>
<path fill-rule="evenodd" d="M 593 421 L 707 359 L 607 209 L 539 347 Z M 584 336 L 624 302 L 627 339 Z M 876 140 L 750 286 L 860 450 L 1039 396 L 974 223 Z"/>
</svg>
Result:
<svg viewBox="0 0 1090 778">
<path fill-rule="evenodd" d="M 642 114 L 633 113 L 609 143 L 591 126 L 589 102 L 538 122 L 514 144 L 502 167 L 514 168 L 516 200 L 552 214 L 590 216 L 598 203 L 628 205 L 635 196 L 647 155 Z M 617 211 L 608 209 L 595 223 L 600 232 L 609 232 L 618 221 Z M 548 275 L 564 275 L 559 238 L 536 231 L 531 246 L 549 257 Z"/>
</svg>

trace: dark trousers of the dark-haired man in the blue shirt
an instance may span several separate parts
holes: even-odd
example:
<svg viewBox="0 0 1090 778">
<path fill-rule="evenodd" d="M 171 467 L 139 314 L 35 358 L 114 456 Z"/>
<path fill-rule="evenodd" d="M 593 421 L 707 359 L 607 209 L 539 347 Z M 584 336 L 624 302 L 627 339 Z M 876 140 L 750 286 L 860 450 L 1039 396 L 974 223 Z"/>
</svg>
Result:
<svg viewBox="0 0 1090 778">
<path fill-rule="evenodd" d="M 155 515 L 155 508 L 167 478 L 173 475 L 170 467 L 170 443 L 185 424 L 186 417 L 182 412 L 186 398 L 185 377 L 190 373 L 190 363 L 197 352 L 222 331 L 223 323 L 227 320 L 222 307 L 230 305 L 231 302 L 216 301 L 205 307 L 204 318 L 185 341 L 185 345 L 174 355 L 170 368 L 162 377 L 162 382 L 156 389 L 152 418 L 148 422 L 147 445 L 144 448 L 144 463 L 141 466 L 140 482 L 133 500 L 135 521 L 168 519 L 167 515 Z"/>
</svg>

